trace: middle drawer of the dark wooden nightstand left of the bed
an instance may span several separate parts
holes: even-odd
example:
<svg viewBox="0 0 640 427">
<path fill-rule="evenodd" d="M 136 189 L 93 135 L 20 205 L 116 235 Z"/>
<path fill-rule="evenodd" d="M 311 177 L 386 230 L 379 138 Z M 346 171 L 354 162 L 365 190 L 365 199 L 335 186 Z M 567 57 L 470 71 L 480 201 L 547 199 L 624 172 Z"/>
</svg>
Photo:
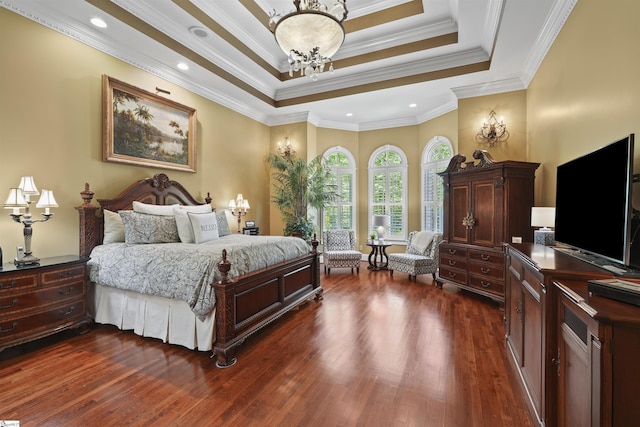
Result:
<svg viewBox="0 0 640 427">
<path fill-rule="evenodd" d="M 5 316 L 16 316 L 16 313 L 23 310 L 59 304 L 69 299 L 82 299 L 84 294 L 84 282 L 75 280 L 35 292 L 0 296 L 0 319 Z"/>
</svg>

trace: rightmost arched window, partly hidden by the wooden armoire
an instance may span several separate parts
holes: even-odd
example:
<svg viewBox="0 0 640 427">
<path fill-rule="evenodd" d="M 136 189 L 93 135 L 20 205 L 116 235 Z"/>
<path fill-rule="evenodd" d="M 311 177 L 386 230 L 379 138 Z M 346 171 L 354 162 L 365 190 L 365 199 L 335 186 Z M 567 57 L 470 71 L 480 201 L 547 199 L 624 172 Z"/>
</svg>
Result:
<svg viewBox="0 0 640 427">
<path fill-rule="evenodd" d="M 422 152 L 422 229 L 431 231 L 443 231 L 444 188 L 442 178 L 438 172 L 442 172 L 449 165 L 453 156 L 451 142 L 443 136 L 433 137 L 424 147 Z"/>
</svg>

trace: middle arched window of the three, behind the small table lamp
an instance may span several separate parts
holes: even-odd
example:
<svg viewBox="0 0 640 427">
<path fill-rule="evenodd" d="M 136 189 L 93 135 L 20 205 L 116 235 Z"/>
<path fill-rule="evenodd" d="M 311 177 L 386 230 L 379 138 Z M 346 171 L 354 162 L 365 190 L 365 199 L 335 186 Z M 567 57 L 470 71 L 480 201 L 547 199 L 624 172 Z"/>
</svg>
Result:
<svg viewBox="0 0 640 427">
<path fill-rule="evenodd" d="M 406 240 L 407 156 L 393 145 L 378 148 L 369 159 L 369 233 L 373 215 L 389 215 L 386 240 Z"/>
</svg>

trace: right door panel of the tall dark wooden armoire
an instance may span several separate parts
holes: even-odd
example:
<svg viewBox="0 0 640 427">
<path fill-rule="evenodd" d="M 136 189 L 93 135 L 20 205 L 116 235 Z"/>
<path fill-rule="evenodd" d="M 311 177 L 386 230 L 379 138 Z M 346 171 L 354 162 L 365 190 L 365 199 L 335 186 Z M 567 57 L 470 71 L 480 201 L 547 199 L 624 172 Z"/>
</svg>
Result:
<svg viewBox="0 0 640 427">
<path fill-rule="evenodd" d="M 495 242 L 496 211 L 495 187 L 493 182 L 473 183 L 473 216 L 476 224 L 471 234 L 471 243 L 493 246 Z"/>
</svg>

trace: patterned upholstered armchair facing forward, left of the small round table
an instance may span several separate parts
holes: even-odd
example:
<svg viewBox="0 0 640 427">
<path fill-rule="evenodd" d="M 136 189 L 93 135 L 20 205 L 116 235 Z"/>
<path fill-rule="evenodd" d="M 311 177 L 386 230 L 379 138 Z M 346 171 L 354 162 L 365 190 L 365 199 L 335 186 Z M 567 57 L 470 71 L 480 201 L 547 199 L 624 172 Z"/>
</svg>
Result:
<svg viewBox="0 0 640 427">
<path fill-rule="evenodd" d="M 356 250 L 356 233 L 353 230 L 325 230 L 322 232 L 324 272 L 332 268 L 355 268 L 360 273 L 362 254 Z"/>
</svg>

